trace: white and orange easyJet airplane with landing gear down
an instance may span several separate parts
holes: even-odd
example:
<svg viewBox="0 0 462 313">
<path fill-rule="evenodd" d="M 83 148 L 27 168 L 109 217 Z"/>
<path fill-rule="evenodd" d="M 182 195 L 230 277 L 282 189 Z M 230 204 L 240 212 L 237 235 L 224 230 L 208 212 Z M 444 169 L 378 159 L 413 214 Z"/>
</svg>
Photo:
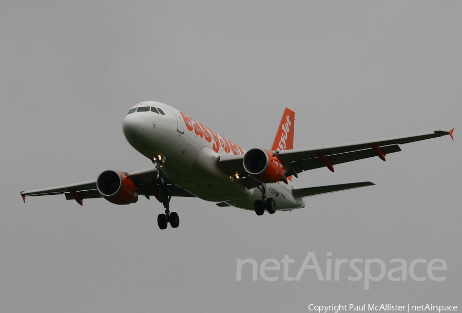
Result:
<svg viewBox="0 0 462 313">
<path fill-rule="evenodd" d="M 133 172 L 108 170 L 97 179 L 70 185 L 23 191 L 21 195 L 64 194 L 83 205 L 83 199 L 100 198 L 117 205 L 137 202 L 140 195 L 154 196 L 165 213 L 158 226 L 166 229 L 180 224 L 178 213 L 170 212 L 172 197 L 199 197 L 217 202 L 219 207 L 233 206 L 253 210 L 291 211 L 304 208 L 303 197 L 375 185 L 370 181 L 339 185 L 296 188 L 292 176 L 354 160 L 379 157 L 401 151 L 399 144 L 450 135 L 434 131 L 379 140 L 294 149 L 295 113 L 285 108 L 271 150 L 248 151 L 220 136 L 178 109 L 157 101 L 132 106 L 122 122 L 127 141 L 149 158 L 153 167 Z"/>
</svg>

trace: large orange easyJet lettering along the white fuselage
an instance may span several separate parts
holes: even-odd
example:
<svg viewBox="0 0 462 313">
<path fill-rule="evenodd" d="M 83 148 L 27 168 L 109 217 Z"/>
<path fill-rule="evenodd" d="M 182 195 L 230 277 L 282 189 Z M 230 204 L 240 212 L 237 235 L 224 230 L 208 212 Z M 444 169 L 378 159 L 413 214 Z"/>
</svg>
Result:
<svg viewBox="0 0 462 313">
<path fill-rule="evenodd" d="M 242 150 L 242 148 L 234 142 L 218 135 L 207 126 L 197 122 L 195 119 L 187 116 L 183 112 L 180 112 L 180 114 L 183 117 L 184 124 L 188 131 L 194 132 L 196 135 L 204 138 L 207 142 L 212 142 L 212 140 L 214 141 L 212 149 L 216 153 L 220 151 L 221 147 L 225 153 L 233 152 L 233 154 L 244 154 L 244 150 Z"/>
</svg>

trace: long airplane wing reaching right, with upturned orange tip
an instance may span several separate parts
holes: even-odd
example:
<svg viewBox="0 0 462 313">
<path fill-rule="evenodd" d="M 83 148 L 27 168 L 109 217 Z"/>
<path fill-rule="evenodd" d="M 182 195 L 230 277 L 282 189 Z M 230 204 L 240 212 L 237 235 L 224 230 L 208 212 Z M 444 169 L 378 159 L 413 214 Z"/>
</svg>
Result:
<svg viewBox="0 0 462 313">
<path fill-rule="evenodd" d="M 452 132 L 434 131 L 409 136 L 391 137 L 386 139 L 360 141 L 339 145 L 318 146 L 308 149 L 292 149 L 274 151 L 278 158 L 283 161 L 286 176 L 294 175 L 307 170 L 327 167 L 334 172 L 334 165 L 351 162 L 378 156 L 383 161 L 389 153 L 401 151 L 398 144 L 404 144 L 414 141 L 431 139 L 441 136 L 450 135 L 454 140 Z M 220 168 L 228 175 L 246 176 L 242 164 L 243 155 L 221 156 L 219 160 Z M 244 178 L 247 179 L 247 178 Z M 245 185 L 245 182 L 244 182 Z"/>
</svg>

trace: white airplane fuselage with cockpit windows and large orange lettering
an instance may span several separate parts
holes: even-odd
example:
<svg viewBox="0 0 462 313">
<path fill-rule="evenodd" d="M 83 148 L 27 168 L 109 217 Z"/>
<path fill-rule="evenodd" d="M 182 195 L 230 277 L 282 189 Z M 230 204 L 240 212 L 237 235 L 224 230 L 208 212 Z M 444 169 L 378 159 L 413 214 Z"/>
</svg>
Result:
<svg viewBox="0 0 462 313">
<path fill-rule="evenodd" d="M 246 189 L 239 178 L 225 174 L 218 165 L 220 156 L 245 151 L 174 107 L 155 101 L 138 103 L 124 118 L 123 131 L 134 149 L 149 159 L 162 157 L 162 172 L 201 199 L 249 210 L 261 199 L 259 189 Z M 265 186 L 277 210 L 304 207 L 302 198 L 294 197 L 291 181 Z"/>
</svg>

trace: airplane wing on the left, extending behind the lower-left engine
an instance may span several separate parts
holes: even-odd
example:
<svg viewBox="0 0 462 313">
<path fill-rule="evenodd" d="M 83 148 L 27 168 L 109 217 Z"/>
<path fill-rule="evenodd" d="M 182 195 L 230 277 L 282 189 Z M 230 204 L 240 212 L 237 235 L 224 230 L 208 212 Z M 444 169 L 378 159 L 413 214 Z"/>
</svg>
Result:
<svg viewBox="0 0 462 313">
<path fill-rule="evenodd" d="M 137 190 L 140 195 L 144 195 L 149 199 L 149 196 L 156 195 L 155 188 L 152 185 L 152 179 L 157 176 L 157 169 L 151 168 L 141 171 L 134 171 L 124 173 L 129 177 L 137 186 Z M 171 196 L 176 197 L 195 197 L 186 190 L 175 186 L 172 182 L 164 177 L 165 183 L 167 184 L 167 193 Z M 89 180 L 84 182 L 72 183 L 70 185 L 63 185 L 51 188 L 36 189 L 21 192 L 23 201 L 26 202 L 26 196 L 47 196 L 64 194 L 67 200 L 74 199 L 80 205 L 82 205 L 83 199 L 89 198 L 101 198 L 101 194 L 98 192 L 97 180 Z"/>
</svg>

